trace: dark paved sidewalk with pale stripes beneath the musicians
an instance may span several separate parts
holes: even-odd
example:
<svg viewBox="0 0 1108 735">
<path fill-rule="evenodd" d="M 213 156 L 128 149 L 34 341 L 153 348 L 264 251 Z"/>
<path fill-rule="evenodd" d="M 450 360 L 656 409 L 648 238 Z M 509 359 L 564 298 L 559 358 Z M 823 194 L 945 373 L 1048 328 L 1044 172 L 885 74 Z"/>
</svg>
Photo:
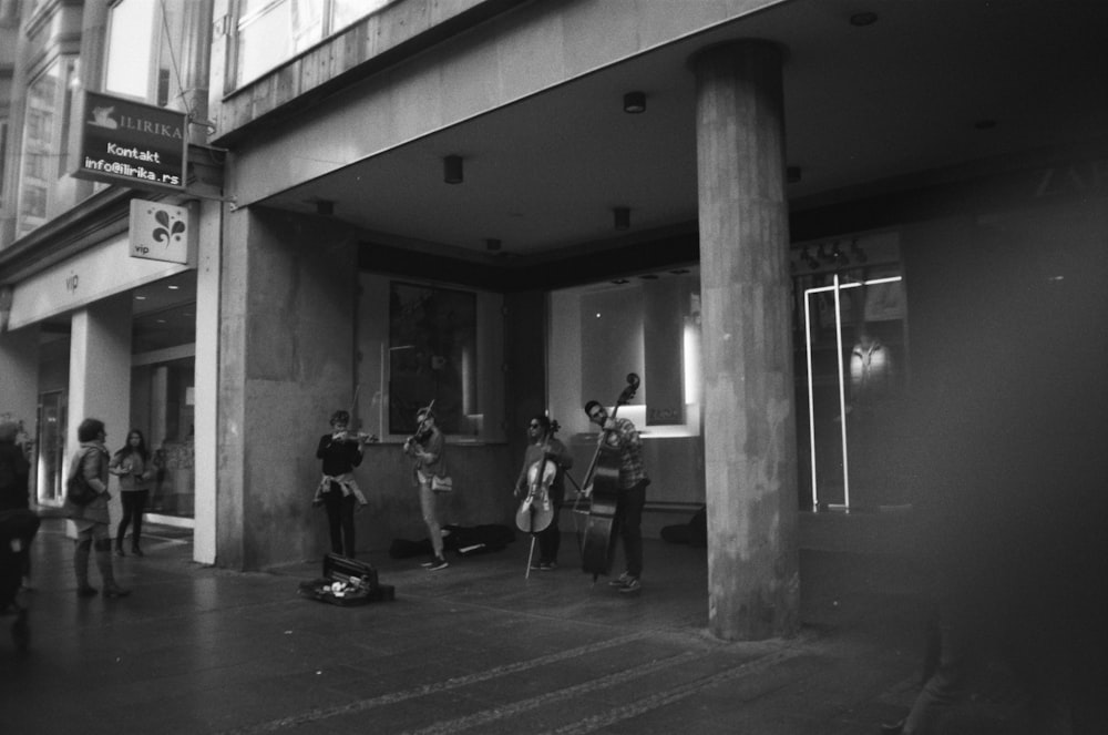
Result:
<svg viewBox="0 0 1108 735">
<path fill-rule="evenodd" d="M 30 651 L 0 631 L 0 732 L 873 733 L 911 702 L 923 619 L 896 521 L 863 523 L 802 522 L 800 635 L 726 643 L 707 633 L 705 551 L 660 541 L 636 596 L 593 585 L 570 534 L 564 565 L 525 579 L 520 534 L 439 572 L 370 554 L 397 599 L 343 609 L 297 596 L 318 563 L 205 568 L 152 527 L 145 558 L 116 559 L 134 594 L 81 600 L 47 519 Z M 1007 732 L 1005 706 L 963 708 L 957 732 Z"/>
</svg>

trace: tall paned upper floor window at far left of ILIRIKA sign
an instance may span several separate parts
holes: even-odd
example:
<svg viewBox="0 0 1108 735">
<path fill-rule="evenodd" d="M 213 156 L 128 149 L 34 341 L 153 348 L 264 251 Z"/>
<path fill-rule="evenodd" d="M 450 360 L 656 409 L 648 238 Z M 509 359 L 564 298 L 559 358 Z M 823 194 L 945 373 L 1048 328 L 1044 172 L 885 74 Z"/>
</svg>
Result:
<svg viewBox="0 0 1108 735">
<path fill-rule="evenodd" d="M 20 151 L 17 237 L 45 224 L 60 204 L 65 145 L 73 104 L 75 58 L 59 57 L 27 90 L 27 124 Z"/>
</svg>

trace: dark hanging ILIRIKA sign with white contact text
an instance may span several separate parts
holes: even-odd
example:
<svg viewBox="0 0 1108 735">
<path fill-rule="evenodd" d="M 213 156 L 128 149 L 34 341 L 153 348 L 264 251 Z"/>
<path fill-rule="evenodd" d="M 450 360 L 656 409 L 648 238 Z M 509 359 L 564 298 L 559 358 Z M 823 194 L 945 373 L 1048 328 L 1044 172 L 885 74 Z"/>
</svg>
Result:
<svg viewBox="0 0 1108 735">
<path fill-rule="evenodd" d="M 73 175 L 146 188 L 185 187 L 187 115 L 99 92 L 84 93 Z"/>
</svg>

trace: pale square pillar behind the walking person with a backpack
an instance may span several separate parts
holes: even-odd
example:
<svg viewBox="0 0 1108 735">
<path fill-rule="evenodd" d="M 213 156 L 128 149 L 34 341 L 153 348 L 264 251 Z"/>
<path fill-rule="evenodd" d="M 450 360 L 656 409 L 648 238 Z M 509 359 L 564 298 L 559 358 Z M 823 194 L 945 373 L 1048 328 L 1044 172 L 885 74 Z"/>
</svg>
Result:
<svg viewBox="0 0 1108 735">
<path fill-rule="evenodd" d="M 115 451 L 131 429 L 131 295 L 90 305 L 73 314 L 70 331 L 69 436 L 65 461 L 79 446 L 78 426 L 98 418 Z M 120 518 L 119 492 L 112 488 L 112 517 Z"/>
</svg>

